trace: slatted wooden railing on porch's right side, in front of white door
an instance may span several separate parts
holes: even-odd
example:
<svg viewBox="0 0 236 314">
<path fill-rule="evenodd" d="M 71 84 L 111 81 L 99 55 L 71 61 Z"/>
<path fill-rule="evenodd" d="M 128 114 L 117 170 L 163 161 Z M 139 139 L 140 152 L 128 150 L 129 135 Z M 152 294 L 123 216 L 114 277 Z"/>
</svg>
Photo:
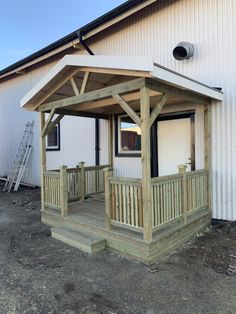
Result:
<svg viewBox="0 0 236 314">
<path fill-rule="evenodd" d="M 183 218 L 194 210 L 208 209 L 208 170 L 186 172 L 179 167 L 179 174 L 152 178 L 153 228 Z"/>
</svg>

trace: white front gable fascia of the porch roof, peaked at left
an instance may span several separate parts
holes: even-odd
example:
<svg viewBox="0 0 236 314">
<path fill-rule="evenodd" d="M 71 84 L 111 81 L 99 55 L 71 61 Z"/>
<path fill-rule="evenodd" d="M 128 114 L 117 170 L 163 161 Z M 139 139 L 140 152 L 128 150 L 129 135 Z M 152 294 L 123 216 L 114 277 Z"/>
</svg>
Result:
<svg viewBox="0 0 236 314">
<path fill-rule="evenodd" d="M 39 92 L 66 66 L 109 68 L 116 70 L 153 71 L 151 57 L 65 55 L 20 101 L 20 107 Z"/>
</svg>

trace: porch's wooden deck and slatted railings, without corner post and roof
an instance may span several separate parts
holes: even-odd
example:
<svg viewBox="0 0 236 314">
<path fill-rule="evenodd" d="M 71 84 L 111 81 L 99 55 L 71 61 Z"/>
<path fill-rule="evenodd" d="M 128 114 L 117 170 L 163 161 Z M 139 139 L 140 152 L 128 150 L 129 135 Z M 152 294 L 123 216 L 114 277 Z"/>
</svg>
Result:
<svg viewBox="0 0 236 314">
<path fill-rule="evenodd" d="M 152 178 L 150 242 L 144 240 L 141 180 L 114 177 L 106 165 L 84 167 L 83 163 L 46 171 L 44 180 L 43 223 L 89 232 L 104 239 L 107 247 L 147 264 L 211 219 L 207 170 L 186 173 L 180 166 L 177 175 Z"/>
</svg>

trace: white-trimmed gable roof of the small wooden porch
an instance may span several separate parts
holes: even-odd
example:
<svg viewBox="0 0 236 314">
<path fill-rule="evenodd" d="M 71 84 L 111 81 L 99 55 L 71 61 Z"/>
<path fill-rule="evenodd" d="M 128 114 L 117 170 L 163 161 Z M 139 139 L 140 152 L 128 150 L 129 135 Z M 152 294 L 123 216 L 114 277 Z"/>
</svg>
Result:
<svg viewBox="0 0 236 314">
<path fill-rule="evenodd" d="M 90 69 L 91 72 L 93 72 L 92 69 L 100 69 L 101 73 L 109 73 L 112 70 L 114 74 L 119 74 L 119 70 L 123 70 L 127 75 L 132 71 L 137 77 L 148 77 L 195 95 L 217 101 L 222 101 L 224 98 L 221 91 L 153 63 L 150 57 L 67 55 L 21 99 L 21 107 L 37 110 L 38 98 L 41 98 L 44 93 L 47 94 L 55 83 L 63 80 L 65 71 L 75 71 L 80 68 L 83 71 Z"/>
</svg>

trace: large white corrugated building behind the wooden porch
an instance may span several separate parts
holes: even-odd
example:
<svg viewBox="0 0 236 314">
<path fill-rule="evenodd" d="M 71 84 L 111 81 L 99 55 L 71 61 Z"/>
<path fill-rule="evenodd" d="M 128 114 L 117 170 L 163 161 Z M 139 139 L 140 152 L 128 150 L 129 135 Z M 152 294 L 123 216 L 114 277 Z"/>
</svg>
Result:
<svg viewBox="0 0 236 314">
<path fill-rule="evenodd" d="M 117 10 L 83 27 L 80 32 L 72 33 L 35 55 L 2 70 L 0 72 L 0 125 L 3 131 L 0 133 L 0 175 L 7 173 L 23 132 L 24 122 L 34 119 L 36 126 L 30 182 L 39 184 L 38 117 L 33 112 L 20 110 L 19 103 L 20 99 L 53 68 L 63 55 L 87 54 L 86 47 L 89 47 L 95 55 L 151 57 L 155 63 L 193 80 L 211 87 L 222 88 L 224 101 L 212 105 L 212 209 L 214 218 L 235 220 L 236 21 L 234 12 L 236 12 L 234 0 L 128 1 Z M 190 59 L 178 61 L 173 57 L 173 48 L 180 42 L 194 45 L 194 54 Z M 184 103 L 174 109 L 167 106 L 164 110 L 162 114 L 174 111 L 180 114 L 191 111 L 194 114 L 195 153 L 192 152 L 192 156 L 189 157 L 192 161 L 195 160 L 195 169 L 202 168 L 204 130 L 201 123 L 203 123 L 204 107 Z M 190 128 L 188 121 L 185 121 L 186 128 Z M 103 135 L 106 134 L 106 127 L 106 122 L 100 123 L 100 163 L 107 162 L 106 138 Z M 163 126 L 160 123 L 160 130 L 165 132 L 165 135 L 168 133 L 166 130 L 172 127 L 174 125 L 171 125 L 171 122 L 170 125 L 163 124 Z M 173 133 L 180 131 L 177 125 L 176 128 Z M 75 135 L 73 141 L 71 141 L 71 132 Z M 183 132 L 186 133 L 186 129 Z M 158 145 L 162 144 L 158 143 Z M 55 168 L 61 164 L 75 166 L 79 160 L 84 160 L 86 164 L 95 164 L 94 119 L 64 118 L 61 122 L 60 151 L 48 152 L 47 160 L 48 168 Z M 157 160 L 161 164 L 165 161 L 165 156 L 158 156 Z M 188 160 L 183 160 L 183 163 L 187 162 Z M 130 158 L 116 154 L 114 165 L 117 175 L 126 177 L 141 175 L 138 156 Z M 166 170 L 161 174 L 166 174 Z"/>
</svg>

